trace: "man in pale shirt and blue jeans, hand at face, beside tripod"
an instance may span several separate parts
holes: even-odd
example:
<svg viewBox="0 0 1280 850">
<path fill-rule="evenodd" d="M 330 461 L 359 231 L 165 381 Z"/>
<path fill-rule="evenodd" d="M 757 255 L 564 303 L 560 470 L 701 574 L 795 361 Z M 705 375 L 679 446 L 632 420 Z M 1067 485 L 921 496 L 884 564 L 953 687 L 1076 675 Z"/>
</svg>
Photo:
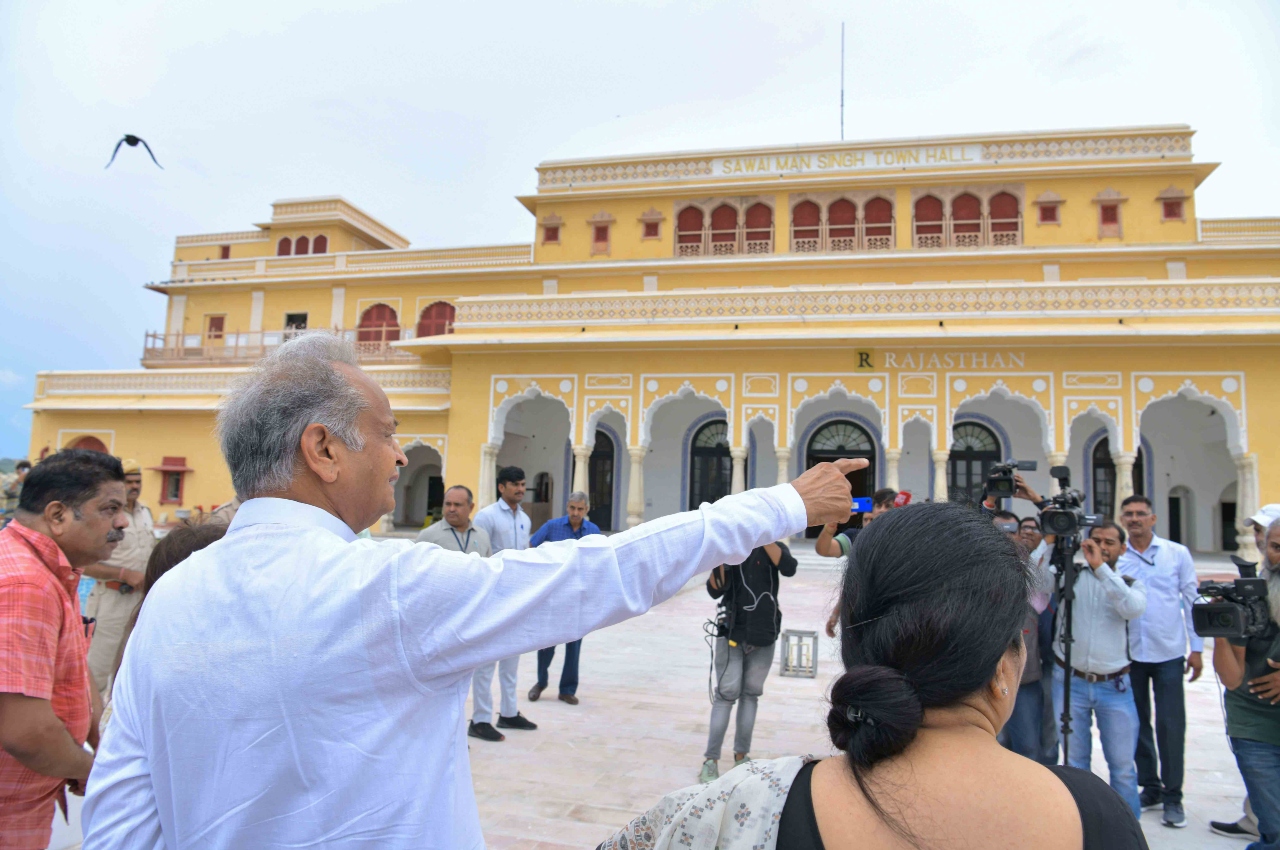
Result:
<svg viewBox="0 0 1280 850">
<path fill-rule="evenodd" d="M 1064 682 L 1068 675 L 1073 676 L 1068 762 L 1070 767 L 1091 769 L 1091 716 L 1096 717 L 1111 787 L 1129 804 L 1134 817 L 1140 818 L 1138 769 L 1133 758 L 1138 746 L 1138 709 L 1129 685 L 1129 621 L 1147 608 L 1147 589 L 1140 581 L 1116 572 L 1124 547 L 1124 529 L 1111 521 L 1094 527 L 1080 543 L 1089 568 L 1075 577 L 1075 646 L 1070 670 L 1064 661 L 1061 618 L 1055 630 L 1053 708 L 1062 713 Z"/>
</svg>

